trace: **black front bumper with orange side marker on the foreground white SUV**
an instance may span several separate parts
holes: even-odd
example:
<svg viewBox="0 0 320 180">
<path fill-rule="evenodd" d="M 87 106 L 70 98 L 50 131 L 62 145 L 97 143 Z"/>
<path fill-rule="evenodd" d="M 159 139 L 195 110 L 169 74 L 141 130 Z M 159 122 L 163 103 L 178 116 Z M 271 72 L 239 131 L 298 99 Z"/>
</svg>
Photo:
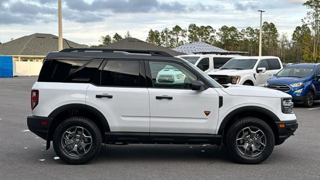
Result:
<svg viewBox="0 0 320 180">
<path fill-rule="evenodd" d="M 298 128 L 298 123 L 296 123 L 296 120 L 276 121 L 275 123 L 279 132 L 278 141 L 275 145 L 283 143 L 285 139 L 291 135 L 294 135 L 293 132 Z"/>
</svg>

